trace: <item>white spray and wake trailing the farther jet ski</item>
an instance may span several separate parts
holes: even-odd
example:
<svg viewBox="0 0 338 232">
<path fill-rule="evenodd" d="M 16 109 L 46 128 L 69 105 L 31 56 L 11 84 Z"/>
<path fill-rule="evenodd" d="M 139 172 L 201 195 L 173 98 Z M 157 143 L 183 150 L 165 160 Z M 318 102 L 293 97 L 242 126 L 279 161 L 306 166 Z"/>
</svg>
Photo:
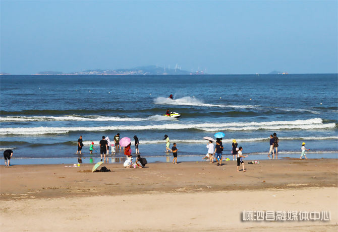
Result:
<svg viewBox="0 0 338 232">
<path fill-rule="evenodd" d="M 219 105 L 219 104 L 207 104 L 196 98 L 183 97 L 175 100 L 169 98 L 158 97 L 154 99 L 155 104 L 159 105 L 178 105 L 178 106 L 204 106 L 204 107 L 229 107 L 229 108 L 256 108 L 252 105 Z"/>
</svg>

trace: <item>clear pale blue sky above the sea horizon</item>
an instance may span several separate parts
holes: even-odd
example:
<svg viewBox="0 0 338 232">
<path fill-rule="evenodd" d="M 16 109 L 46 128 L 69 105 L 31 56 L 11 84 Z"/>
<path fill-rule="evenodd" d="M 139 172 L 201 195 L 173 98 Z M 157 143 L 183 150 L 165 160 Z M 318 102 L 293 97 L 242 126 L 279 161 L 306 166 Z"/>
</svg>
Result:
<svg viewBox="0 0 338 232">
<path fill-rule="evenodd" d="M 0 72 L 338 72 L 337 1 L 4 1 Z"/>
</svg>

